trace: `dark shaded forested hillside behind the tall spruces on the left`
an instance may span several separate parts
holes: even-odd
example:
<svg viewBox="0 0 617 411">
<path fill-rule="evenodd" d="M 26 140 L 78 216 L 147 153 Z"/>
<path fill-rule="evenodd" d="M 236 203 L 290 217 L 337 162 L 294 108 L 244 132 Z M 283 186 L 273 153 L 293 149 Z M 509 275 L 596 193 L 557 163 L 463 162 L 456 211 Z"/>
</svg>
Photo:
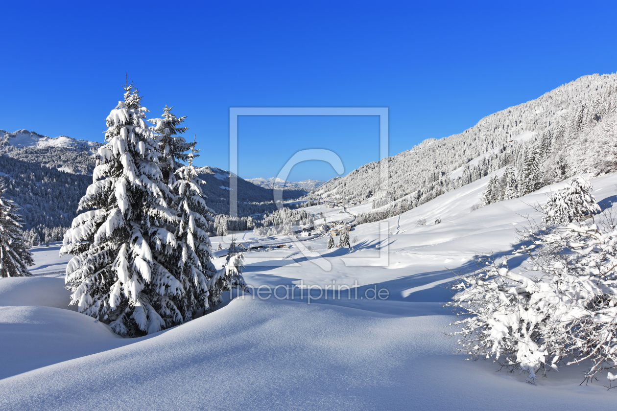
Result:
<svg viewBox="0 0 617 411">
<path fill-rule="evenodd" d="M 31 238 L 38 235 L 38 242 L 41 243 L 61 240 L 62 229 L 69 227 L 77 216 L 80 198 L 92 182 L 95 166 L 92 152 L 89 149 L 81 150 L 80 146 L 76 149 L 70 145 L 33 144 L 32 141 L 55 140 L 35 132 L 20 130 L 4 133 L 9 134 L 9 143 L 20 142 L 19 145 L 6 145 L 4 155 L 0 156 L 0 179 L 6 184 L 6 196 L 22 208 L 25 228 Z M 30 145 L 22 146 L 23 142 Z M 98 145 L 83 144 L 81 147 Z M 199 168 L 198 171 L 199 177 L 206 182 L 204 193 L 208 197 L 207 203 L 218 214 L 211 224 L 210 234 L 221 230 L 253 229 L 263 214 L 277 209 L 271 189 L 238 177 L 239 217 L 229 218 L 229 172 L 210 167 Z M 302 194 L 304 192 L 285 190 L 283 198 Z M 251 215 L 253 217 L 249 219 Z"/>
</svg>

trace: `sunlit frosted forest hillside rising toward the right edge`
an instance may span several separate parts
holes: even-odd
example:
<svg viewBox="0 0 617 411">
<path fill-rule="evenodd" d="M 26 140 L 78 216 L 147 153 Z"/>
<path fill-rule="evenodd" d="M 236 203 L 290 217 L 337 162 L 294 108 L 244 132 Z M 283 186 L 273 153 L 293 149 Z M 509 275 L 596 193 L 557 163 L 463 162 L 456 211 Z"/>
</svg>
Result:
<svg viewBox="0 0 617 411">
<path fill-rule="evenodd" d="M 508 165 L 514 179 L 524 182 L 521 192 L 581 171 L 607 173 L 617 164 L 611 138 L 616 110 L 617 75 L 584 76 L 486 116 L 460 134 L 424 140 L 381 160 L 388 162 L 388 187 L 380 187 L 380 163 L 373 162 L 307 197 L 381 198 L 376 206 L 400 213 Z"/>
</svg>

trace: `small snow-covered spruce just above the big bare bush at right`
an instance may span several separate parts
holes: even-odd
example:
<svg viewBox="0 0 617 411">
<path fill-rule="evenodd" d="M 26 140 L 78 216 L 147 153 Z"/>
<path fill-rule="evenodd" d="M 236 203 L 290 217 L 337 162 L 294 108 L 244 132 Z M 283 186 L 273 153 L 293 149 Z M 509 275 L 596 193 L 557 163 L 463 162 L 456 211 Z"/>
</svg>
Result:
<svg viewBox="0 0 617 411">
<path fill-rule="evenodd" d="M 545 224 L 568 224 L 600 213 L 600 206 L 595 202 L 592 190 L 594 187 L 587 179 L 571 179 L 565 189 L 552 193 L 542 206 L 542 221 Z"/>
</svg>

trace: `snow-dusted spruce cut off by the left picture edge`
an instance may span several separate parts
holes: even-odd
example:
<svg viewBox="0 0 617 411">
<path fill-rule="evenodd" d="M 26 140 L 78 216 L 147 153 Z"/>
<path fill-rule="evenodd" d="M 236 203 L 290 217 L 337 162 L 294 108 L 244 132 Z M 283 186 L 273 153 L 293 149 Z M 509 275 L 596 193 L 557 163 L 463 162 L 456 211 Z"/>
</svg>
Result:
<svg viewBox="0 0 617 411">
<path fill-rule="evenodd" d="M 33 266 L 28 239 L 22 231 L 22 216 L 17 206 L 4 197 L 6 186 L 0 182 L 0 277 L 28 277 Z"/>
</svg>

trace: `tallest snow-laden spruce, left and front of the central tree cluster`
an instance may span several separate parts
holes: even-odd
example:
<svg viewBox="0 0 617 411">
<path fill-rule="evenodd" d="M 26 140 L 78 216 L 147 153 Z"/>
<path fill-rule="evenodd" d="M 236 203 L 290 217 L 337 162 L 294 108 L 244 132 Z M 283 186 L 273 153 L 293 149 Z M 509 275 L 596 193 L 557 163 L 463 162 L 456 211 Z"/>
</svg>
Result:
<svg viewBox="0 0 617 411">
<path fill-rule="evenodd" d="M 66 275 L 71 304 L 120 335 L 138 336 L 181 324 L 186 290 L 172 274 L 178 218 L 158 166 L 158 142 L 137 89 L 123 88 L 79 204 L 89 211 L 73 220 L 60 254 L 74 256 Z"/>
</svg>

